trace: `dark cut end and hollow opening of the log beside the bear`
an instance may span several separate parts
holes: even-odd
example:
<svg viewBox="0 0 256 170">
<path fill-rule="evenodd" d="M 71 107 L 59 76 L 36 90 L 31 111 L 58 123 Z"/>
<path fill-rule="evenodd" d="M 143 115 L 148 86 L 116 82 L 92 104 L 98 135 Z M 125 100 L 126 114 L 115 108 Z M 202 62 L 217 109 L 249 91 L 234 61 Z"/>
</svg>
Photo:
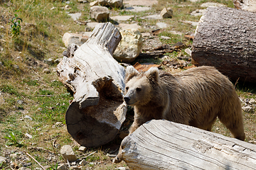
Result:
<svg viewBox="0 0 256 170">
<path fill-rule="evenodd" d="M 81 108 L 79 102 L 73 102 L 66 113 L 68 132 L 85 147 L 110 142 L 117 135 L 127 111 L 122 93 L 112 80 L 97 81 L 95 85 L 100 95 L 97 105 Z"/>
</svg>

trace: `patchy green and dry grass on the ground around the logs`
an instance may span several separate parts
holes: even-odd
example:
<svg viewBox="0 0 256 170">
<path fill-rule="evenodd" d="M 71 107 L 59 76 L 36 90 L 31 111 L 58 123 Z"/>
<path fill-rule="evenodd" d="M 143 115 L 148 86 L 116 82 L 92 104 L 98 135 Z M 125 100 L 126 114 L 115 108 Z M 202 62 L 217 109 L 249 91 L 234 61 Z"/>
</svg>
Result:
<svg viewBox="0 0 256 170">
<path fill-rule="evenodd" d="M 180 21 L 198 21 L 200 17 L 190 16 L 189 13 L 196 10 L 196 8 L 200 8 L 202 2 L 191 4 L 189 1 L 159 0 L 159 4 L 154 6 L 153 11 L 159 12 L 163 7 L 169 6 L 174 10 L 172 19 L 164 19 L 164 22 L 170 24 L 170 28 L 160 34 L 168 35 L 172 39 L 163 40 L 163 42 L 172 45 L 183 40 L 187 45 L 191 45 L 192 42 L 185 41 L 183 36 L 171 35 L 168 31 L 177 30 L 182 33 L 190 31 L 193 33 L 195 27 L 188 26 Z M 216 2 L 233 7 L 231 1 L 219 0 Z M 183 6 L 180 6 L 181 4 Z M 0 61 L 3 64 L 0 67 L 0 101 L 4 101 L 0 103 L 0 155 L 3 155 L 6 149 L 21 150 L 33 155 L 38 162 L 45 166 L 56 164 L 55 159 L 49 161 L 46 159 L 50 155 L 49 152 L 42 149 L 28 149 L 29 147 L 43 147 L 43 149 L 53 151 L 57 154 L 57 162 L 63 162 L 58 146 L 67 144 L 75 146 L 75 142 L 68 134 L 65 126 L 55 128 L 53 126 L 57 122 L 65 124 L 65 111 L 69 106 L 69 101 L 72 100 L 72 96 L 58 81 L 54 71 L 56 64 L 43 63 L 43 60 L 48 58 L 55 60 L 62 57 L 62 52 L 65 50 L 62 35 L 65 32 L 75 33 L 85 29 L 85 26 L 74 24 L 63 10 L 65 5 L 61 1 L 14 0 L 2 3 L 0 6 L 0 25 L 4 26 L 4 28 L 0 28 Z M 53 6 L 55 8 L 51 10 L 50 8 Z M 76 1 L 71 1 L 70 6 L 70 12 L 82 12 L 80 18 L 82 21 L 89 18 L 89 4 L 81 5 Z M 113 9 L 112 12 L 124 15 L 134 14 L 119 12 L 117 9 Z M 21 34 L 17 38 L 11 37 L 9 25 L 9 19 L 13 18 L 14 14 L 23 19 Z M 137 16 L 146 15 L 148 13 L 137 13 Z M 144 23 L 154 25 L 156 23 L 156 21 L 134 19 L 140 25 L 144 25 Z M 169 55 L 176 57 L 179 53 L 181 53 L 180 55 L 184 54 L 181 51 Z M 143 60 L 137 61 L 143 62 Z M 155 62 L 159 62 L 159 60 Z M 44 74 L 44 68 L 50 69 L 51 73 Z M 242 98 L 255 98 L 254 89 L 248 86 L 241 85 L 238 94 Z M 23 101 L 23 103 L 18 104 L 18 100 Z M 25 118 L 25 115 L 29 115 L 33 120 Z M 244 113 L 244 118 L 246 140 L 255 140 L 255 112 Z M 230 136 L 230 132 L 219 122 L 215 124 L 213 131 Z M 5 137 L 11 135 L 12 132 L 14 133 L 13 138 L 6 139 Z M 33 138 L 26 137 L 26 133 L 32 135 Z M 58 146 L 54 147 L 53 143 L 58 144 Z M 74 147 L 74 149 L 76 152 L 78 151 L 78 147 Z M 97 153 L 88 157 L 87 161 L 105 162 L 105 164 L 97 166 L 88 164 L 87 166 L 93 166 L 95 169 L 114 169 L 115 166 L 119 166 L 110 163 L 110 158 L 105 156 L 104 150 L 100 148 L 96 150 Z M 94 149 L 88 149 L 85 154 L 93 151 Z M 77 154 L 81 153 L 77 152 Z M 31 161 L 31 163 L 31 169 L 38 167 L 35 162 Z"/>
</svg>

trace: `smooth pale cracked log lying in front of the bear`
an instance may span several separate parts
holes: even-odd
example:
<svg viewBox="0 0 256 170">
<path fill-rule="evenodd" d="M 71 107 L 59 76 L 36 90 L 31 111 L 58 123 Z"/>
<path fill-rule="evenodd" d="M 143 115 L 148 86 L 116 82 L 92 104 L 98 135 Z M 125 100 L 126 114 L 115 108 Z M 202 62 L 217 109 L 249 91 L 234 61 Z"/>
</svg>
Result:
<svg viewBox="0 0 256 170">
<path fill-rule="evenodd" d="M 168 120 L 144 123 L 121 145 L 129 169 L 256 169 L 256 145 Z"/>
</svg>

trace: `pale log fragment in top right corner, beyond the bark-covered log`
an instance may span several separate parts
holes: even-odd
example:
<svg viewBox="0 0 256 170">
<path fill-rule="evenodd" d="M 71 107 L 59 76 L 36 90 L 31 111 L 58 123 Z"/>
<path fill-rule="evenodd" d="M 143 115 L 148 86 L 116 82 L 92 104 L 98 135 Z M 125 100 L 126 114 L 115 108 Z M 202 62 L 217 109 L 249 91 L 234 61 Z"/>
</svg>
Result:
<svg viewBox="0 0 256 170">
<path fill-rule="evenodd" d="M 256 0 L 233 0 L 235 8 L 256 12 Z"/>
</svg>

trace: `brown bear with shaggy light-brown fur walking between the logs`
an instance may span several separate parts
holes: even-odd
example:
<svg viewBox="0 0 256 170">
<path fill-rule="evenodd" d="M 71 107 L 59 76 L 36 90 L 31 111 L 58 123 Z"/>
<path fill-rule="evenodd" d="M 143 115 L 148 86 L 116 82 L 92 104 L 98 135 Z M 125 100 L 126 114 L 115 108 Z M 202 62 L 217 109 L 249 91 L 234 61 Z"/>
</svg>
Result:
<svg viewBox="0 0 256 170">
<path fill-rule="evenodd" d="M 240 99 L 233 84 L 214 67 L 170 74 L 155 67 L 139 73 L 129 66 L 125 83 L 124 101 L 134 106 L 129 134 L 152 119 L 210 131 L 218 117 L 235 138 L 245 140 Z M 114 162 L 121 160 L 122 154 L 118 154 Z"/>
</svg>

